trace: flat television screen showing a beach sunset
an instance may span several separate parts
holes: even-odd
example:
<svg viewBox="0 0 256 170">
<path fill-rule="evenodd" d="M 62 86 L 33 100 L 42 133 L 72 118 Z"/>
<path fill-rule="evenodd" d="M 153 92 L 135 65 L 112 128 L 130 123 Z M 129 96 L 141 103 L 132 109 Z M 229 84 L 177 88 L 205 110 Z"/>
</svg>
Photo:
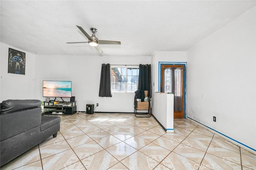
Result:
<svg viewBox="0 0 256 170">
<path fill-rule="evenodd" d="M 43 81 L 43 97 L 71 97 L 71 81 Z"/>
</svg>

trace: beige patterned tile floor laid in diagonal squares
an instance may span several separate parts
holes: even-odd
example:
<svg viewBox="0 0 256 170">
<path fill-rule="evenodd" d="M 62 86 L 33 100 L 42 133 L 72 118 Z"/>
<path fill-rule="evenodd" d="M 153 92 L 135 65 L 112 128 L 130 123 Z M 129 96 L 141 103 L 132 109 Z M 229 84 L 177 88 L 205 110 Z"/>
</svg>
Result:
<svg viewBox="0 0 256 170">
<path fill-rule="evenodd" d="M 189 119 L 174 119 L 174 133 L 166 133 L 154 117 L 60 117 L 56 138 L 48 138 L 1 170 L 256 170 L 256 155 Z"/>
</svg>

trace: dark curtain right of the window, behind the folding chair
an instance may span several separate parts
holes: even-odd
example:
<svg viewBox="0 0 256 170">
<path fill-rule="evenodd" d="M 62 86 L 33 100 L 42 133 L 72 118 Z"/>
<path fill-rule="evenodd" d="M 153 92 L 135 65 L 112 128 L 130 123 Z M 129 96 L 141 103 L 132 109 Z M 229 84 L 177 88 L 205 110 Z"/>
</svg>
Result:
<svg viewBox="0 0 256 170">
<path fill-rule="evenodd" d="M 147 90 L 151 96 L 151 64 L 139 65 L 138 89 Z"/>
</svg>

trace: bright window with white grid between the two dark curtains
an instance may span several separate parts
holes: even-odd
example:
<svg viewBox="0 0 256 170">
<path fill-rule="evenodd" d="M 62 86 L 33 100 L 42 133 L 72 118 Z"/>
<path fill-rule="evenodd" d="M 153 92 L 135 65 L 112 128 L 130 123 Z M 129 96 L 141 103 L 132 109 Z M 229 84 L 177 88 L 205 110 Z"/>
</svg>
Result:
<svg viewBox="0 0 256 170">
<path fill-rule="evenodd" d="M 139 67 L 111 67 L 111 91 L 134 92 L 138 87 Z"/>
</svg>

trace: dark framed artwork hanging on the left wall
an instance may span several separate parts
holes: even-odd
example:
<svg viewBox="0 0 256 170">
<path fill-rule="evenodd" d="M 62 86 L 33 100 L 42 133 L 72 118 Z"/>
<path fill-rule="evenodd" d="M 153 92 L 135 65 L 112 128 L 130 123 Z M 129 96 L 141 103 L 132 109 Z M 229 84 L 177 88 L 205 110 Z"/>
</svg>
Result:
<svg viewBox="0 0 256 170">
<path fill-rule="evenodd" d="M 26 53 L 9 48 L 8 73 L 25 75 Z"/>
</svg>

